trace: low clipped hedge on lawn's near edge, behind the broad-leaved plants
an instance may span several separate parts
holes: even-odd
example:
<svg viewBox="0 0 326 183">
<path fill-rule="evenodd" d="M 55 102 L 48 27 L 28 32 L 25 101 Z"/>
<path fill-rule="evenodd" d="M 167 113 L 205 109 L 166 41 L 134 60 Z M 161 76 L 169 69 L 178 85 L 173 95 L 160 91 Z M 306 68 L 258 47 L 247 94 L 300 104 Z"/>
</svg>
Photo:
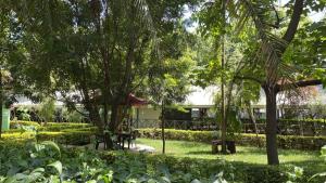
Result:
<svg viewBox="0 0 326 183">
<path fill-rule="evenodd" d="M 180 158 L 168 155 L 158 154 L 135 154 L 135 153 L 121 153 L 121 152 L 100 152 L 101 158 L 106 159 L 108 164 L 118 159 L 118 157 L 126 156 L 127 159 L 141 159 L 146 162 L 149 169 L 163 169 L 168 168 L 170 172 L 187 172 L 195 178 L 209 178 L 223 172 L 223 178 L 228 182 L 246 182 L 246 183 L 280 183 L 289 181 L 289 177 L 296 173 L 294 166 L 279 165 L 279 166 L 265 166 L 256 164 L 248 164 L 240 161 L 225 161 L 223 159 L 200 159 L 200 158 Z M 140 158 L 139 158 L 140 157 Z M 162 166 L 164 165 L 164 166 Z M 321 172 L 316 169 L 304 169 L 302 178 L 296 182 L 304 182 L 315 173 Z M 311 181 L 324 182 L 323 178 L 317 178 Z M 196 181 L 195 181 L 196 182 Z"/>
</svg>

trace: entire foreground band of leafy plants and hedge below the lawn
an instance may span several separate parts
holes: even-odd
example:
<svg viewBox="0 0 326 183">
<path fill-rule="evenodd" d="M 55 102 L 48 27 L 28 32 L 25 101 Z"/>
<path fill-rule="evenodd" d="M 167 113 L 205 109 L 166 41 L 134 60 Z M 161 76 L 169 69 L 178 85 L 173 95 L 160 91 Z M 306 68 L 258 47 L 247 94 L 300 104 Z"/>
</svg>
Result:
<svg viewBox="0 0 326 183">
<path fill-rule="evenodd" d="M 1 182 L 286 182 L 293 166 L 269 167 L 163 155 L 59 148 L 51 142 L 0 143 Z M 15 152 L 17 156 L 8 156 Z M 306 182 L 304 173 L 297 182 Z M 315 180 L 316 182 L 319 179 Z"/>
</svg>

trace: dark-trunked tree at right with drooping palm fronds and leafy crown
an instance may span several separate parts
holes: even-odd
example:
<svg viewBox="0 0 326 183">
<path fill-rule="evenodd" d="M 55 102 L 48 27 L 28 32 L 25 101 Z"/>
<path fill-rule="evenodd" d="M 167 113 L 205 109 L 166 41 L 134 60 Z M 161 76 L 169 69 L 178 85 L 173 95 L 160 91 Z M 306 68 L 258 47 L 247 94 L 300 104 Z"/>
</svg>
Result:
<svg viewBox="0 0 326 183">
<path fill-rule="evenodd" d="M 318 4 L 317 8 L 313 6 Z M 266 94 L 266 151 L 268 165 L 278 165 L 278 153 L 277 153 L 277 119 L 276 119 L 276 95 L 277 93 L 291 90 L 300 87 L 315 86 L 321 84 L 322 76 L 318 73 L 324 73 L 325 68 L 312 69 L 312 62 L 321 64 L 323 58 L 318 54 L 312 54 L 315 56 L 313 61 L 304 60 L 300 62 L 299 60 L 287 60 L 285 55 L 289 54 L 291 47 L 298 49 L 298 44 L 291 44 L 296 32 L 298 30 L 300 17 L 302 13 L 306 15 L 308 9 L 313 8 L 313 10 L 321 10 L 325 8 L 323 1 L 317 2 L 304 2 L 303 0 L 296 0 L 293 4 L 288 4 L 291 9 L 291 16 L 289 24 L 284 27 L 286 30 L 283 34 L 279 29 L 281 28 L 280 24 L 281 18 L 278 16 L 278 12 L 273 5 L 273 2 L 264 3 L 256 2 L 252 3 L 250 1 L 243 1 L 243 6 L 247 10 L 247 13 L 251 16 L 254 26 L 256 28 L 256 34 L 259 37 L 259 45 L 253 49 L 251 55 L 248 57 L 251 60 L 251 71 L 248 75 L 242 75 L 242 79 L 251 79 L 256 81 L 263 88 Z M 305 9 L 306 8 L 306 9 Z M 271 15 L 271 12 L 274 12 L 274 16 Z M 287 13 L 290 13 L 287 12 Z M 271 16 L 274 17 L 274 21 L 271 19 Z M 273 34 L 272 30 L 278 30 L 277 34 Z M 279 36 L 281 35 L 283 36 Z M 299 40 L 299 39 L 298 39 Z M 315 42 L 315 41 L 314 41 Z M 315 43 L 321 41 L 316 41 Z M 323 41 L 322 41 L 323 42 Z M 309 44 L 306 44 L 309 45 Z M 321 50 L 317 51 L 319 54 Z M 297 56 L 300 56 L 304 52 L 300 52 Z M 291 53 L 291 55 L 293 52 Z M 300 62 L 300 65 L 299 63 Z M 255 66 L 254 66 L 255 65 Z M 303 66 L 303 75 L 298 77 L 300 69 L 294 68 L 296 66 Z M 305 69 L 304 66 L 308 66 L 309 69 Z M 248 71 L 248 70 L 247 70 Z M 302 71 L 302 69 L 301 69 Z M 254 75 L 253 75 L 254 73 Z M 254 77 L 251 77 L 254 76 Z M 311 79 L 313 78 L 313 79 Z"/>
</svg>

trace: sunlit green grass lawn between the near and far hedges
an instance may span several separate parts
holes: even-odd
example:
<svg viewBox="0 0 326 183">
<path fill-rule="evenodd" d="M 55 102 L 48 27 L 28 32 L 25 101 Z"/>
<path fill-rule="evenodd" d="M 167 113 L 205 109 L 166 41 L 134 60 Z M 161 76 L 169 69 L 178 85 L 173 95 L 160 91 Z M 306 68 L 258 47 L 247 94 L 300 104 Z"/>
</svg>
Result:
<svg viewBox="0 0 326 183">
<path fill-rule="evenodd" d="M 162 152 L 161 140 L 138 139 L 138 144 L 152 146 L 156 153 Z M 188 157 L 198 159 L 217 159 L 227 161 L 238 161 L 247 164 L 266 165 L 267 156 L 265 148 L 237 146 L 237 153 L 234 155 L 212 155 L 211 145 L 186 141 L 166 141 L 166 155 L 175 157 Z M 279 161 L 283 165 L 296 165 L 302 168 L 315 170 L 326 170 L 326 164 L 319 156 L 319 152 L 304 152 L 296 149 L 279 149 Z"/>
</svg>

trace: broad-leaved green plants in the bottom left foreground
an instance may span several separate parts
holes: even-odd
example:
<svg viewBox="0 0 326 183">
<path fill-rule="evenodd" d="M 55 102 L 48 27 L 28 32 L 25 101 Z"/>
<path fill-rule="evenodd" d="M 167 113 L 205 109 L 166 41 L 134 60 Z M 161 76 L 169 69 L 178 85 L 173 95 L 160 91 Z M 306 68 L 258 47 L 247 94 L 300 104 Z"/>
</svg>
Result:
<svg viewBox="0 0 326 183">
<path fill-rule="evenodd" d="M 143 155 L 105 154 L 91 151 L 61 152 L 52 142 L 32 143 L 23 149 L 3 146 L 1 154 L 17 151 L 20 156 L 1 156 L 1 182 L 191 182 L 195 174 L 170 171 L 162 161 L 147 162 Z M 113 158 L 113 157 L 114 158 Z M 196 174 L 198 175 L 198 174 Z M 224 180 L 198 177 L 198 181 Z"/>
</svg>

